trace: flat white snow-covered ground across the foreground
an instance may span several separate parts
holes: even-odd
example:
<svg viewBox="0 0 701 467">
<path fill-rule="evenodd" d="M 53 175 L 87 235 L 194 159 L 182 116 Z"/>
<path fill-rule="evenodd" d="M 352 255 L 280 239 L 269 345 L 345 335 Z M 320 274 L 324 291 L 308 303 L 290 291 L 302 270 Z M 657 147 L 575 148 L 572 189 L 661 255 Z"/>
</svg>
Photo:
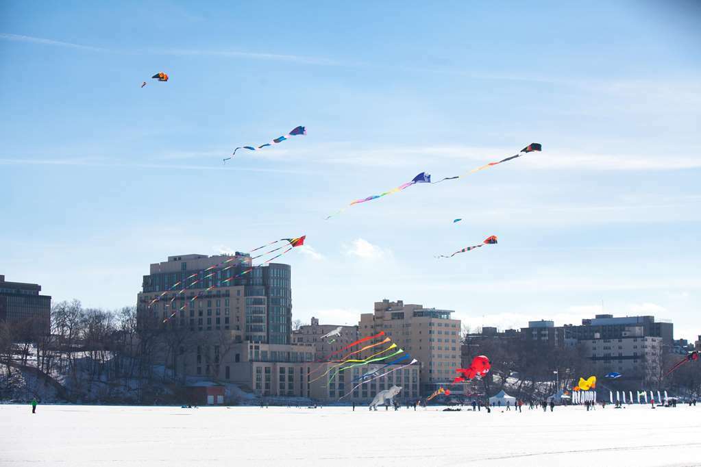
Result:
<svg viewBox="0 0 701 467">
<path fill-rule="evenodd" d="M 7 466 L 701 466 L 701 406 L 0 405 Z"/>
</svg>

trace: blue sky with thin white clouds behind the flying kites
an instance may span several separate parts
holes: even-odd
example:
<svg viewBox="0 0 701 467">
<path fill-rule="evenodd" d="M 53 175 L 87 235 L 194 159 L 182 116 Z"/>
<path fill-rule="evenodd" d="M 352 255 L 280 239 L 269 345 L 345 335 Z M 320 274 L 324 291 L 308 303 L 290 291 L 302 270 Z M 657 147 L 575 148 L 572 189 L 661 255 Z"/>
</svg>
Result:
<svg viewBox="0 0 701 467">
<path fill-rule="evenodd" d="M 701 334 L 699 6 L 259 3 L 0 2 L 0 273 L 116 308 L 169 255 L 306 234 L 285 257 L 304 321 L 603 301 Z"/>
</svg>

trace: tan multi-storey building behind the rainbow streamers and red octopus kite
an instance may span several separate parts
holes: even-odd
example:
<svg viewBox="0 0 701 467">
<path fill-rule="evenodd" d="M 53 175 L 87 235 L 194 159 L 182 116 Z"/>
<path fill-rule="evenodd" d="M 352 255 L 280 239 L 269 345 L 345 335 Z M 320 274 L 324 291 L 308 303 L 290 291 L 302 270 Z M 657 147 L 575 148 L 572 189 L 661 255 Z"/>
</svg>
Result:
<svg viewBox="0 0 701 467">
<path fill-rule="evenodd" d="M 421 363 L 421 393 L 452 382 L 461 365 L 460 320 L 452 310 L 404 304 L 402 300 L 375 302 L 374 313 L 360 315 L 360 337 L 383 330 L 393 342 Z"/>
</svg>

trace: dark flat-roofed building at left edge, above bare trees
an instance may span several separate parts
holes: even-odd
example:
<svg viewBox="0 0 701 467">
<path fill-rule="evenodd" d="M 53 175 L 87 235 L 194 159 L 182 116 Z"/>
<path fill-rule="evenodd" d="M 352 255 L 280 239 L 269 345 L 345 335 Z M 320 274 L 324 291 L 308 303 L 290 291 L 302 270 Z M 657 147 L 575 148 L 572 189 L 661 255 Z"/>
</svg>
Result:
<svg viewBox="0 0 701 467">
<path fill-rule="evenodd" d="M 32 321 L 41 330 L 48 332 L 51 326 L 51 297 L 40 295 L 39 292 L 39 284 L 8 282 L 0 274 L 0 321 Z"/>
</svg>

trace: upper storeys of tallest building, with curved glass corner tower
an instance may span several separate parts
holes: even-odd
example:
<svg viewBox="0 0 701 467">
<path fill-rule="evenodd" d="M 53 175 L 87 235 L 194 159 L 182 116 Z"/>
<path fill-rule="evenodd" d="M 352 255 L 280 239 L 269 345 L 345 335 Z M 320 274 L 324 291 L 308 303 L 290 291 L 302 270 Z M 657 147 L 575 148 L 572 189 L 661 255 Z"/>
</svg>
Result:
<svg viewBox="0 0 701 467">
<path fill-rule="evenodd" d="M 247 253 L 169 256 L 151 264 L 137 303 L 140 326 L 167 319 L 170 328 L 230 330 L 238 342 L 291 342 L 290 266 L 252 267 Z"/>
</svg>

